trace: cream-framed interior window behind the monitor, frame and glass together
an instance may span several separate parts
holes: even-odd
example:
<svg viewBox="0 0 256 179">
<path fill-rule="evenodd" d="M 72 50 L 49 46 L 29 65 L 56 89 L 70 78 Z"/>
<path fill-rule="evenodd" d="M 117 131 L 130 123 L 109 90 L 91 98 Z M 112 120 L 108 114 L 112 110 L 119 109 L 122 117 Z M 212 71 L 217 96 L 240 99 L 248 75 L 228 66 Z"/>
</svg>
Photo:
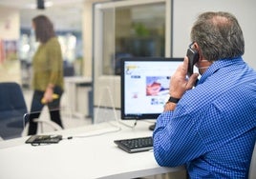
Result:
<svg viewBox="0 0 256 179">
<path fill-rule="evenodd" d="M 94 106 L 120 108 L 121 58 L 170 56 L 170 10 L 171 0 L 94 6 Z M 101 100 L 102 94 L 112 96 L 113 103 Z"/>
</svg>

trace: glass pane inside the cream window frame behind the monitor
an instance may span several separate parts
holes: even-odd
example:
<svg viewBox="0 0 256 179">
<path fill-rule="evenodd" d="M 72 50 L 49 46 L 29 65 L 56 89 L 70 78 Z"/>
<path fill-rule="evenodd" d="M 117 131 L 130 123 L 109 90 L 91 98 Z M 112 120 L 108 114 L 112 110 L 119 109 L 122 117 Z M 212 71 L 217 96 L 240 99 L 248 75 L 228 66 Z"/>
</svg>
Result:
<svg viewBox="0 0 256 179">
<path fill-rule="evenodd" d="M 103 74 L 119 75 L 120 58 L 165 55 L 165 3 L 103 12 Z"/>
</svg>

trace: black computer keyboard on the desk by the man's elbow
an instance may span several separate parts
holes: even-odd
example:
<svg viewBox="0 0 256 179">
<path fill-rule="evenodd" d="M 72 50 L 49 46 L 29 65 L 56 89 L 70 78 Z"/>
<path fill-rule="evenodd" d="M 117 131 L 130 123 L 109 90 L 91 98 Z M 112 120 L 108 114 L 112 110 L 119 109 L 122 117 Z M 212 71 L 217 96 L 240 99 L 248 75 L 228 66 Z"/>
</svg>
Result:
<svg viewBox="0 0 256 179">
<path fill-rule="evenodd" d="M 148 151 L 153 149 L 152 137 L 139 137 L 132 139 L 120 139 L 114 141 L 117 147 L 127 151 L 128 153 L 136 153 L 140 151 Z"/>
</svg>

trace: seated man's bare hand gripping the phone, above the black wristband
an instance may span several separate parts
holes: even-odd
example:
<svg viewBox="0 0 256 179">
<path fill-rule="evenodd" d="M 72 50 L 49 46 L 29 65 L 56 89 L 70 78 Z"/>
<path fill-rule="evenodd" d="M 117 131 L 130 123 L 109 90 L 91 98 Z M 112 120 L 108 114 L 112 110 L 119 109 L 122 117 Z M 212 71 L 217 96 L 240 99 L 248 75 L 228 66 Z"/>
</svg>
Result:
<svg viewBox="0 0 256 179">
<path fill-rule="evenodd" d="M 171 76 L 169 92 L 172 97 L 181 98 L 183 93 L 187 89 L 192 89 L 194 87 L 199 74 L 193 73 L 190 76 L 190 78 L 187 80 L 186 79 L 187 67 L 188 67 L 188 58 L 185 57 L 183 63 Z"/>
</svg>

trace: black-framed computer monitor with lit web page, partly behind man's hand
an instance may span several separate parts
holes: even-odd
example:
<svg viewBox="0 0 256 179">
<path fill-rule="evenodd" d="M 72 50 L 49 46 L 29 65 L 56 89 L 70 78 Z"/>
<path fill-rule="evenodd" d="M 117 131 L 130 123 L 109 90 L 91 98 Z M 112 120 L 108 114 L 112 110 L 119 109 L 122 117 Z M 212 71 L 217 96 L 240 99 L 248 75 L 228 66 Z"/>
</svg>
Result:
<svg viewBox="0 0 256 179">
<path fill-rule="evenodd" d="M 170 77 L 183 58 L 121 59 L 121 119 L 156 119 L 169 96 Z"/>
</svg>

